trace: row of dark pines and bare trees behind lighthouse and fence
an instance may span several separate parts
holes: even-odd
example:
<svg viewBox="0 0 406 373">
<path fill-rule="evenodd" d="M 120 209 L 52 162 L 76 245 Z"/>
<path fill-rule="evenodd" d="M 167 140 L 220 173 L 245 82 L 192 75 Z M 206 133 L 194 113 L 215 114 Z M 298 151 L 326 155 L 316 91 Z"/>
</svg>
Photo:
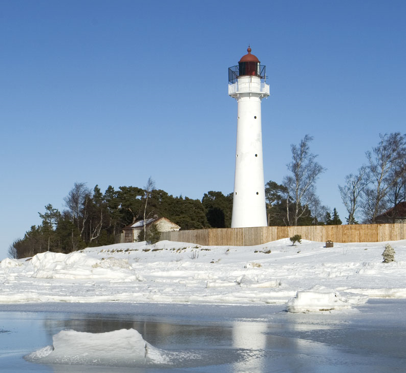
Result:
<svg viewBox="0 0 406 373">
<path fill-rule="evenodd" d="M 265 185 L 269 226 L 340 225 L 337 210 L 324 206 L 317 196 L 316 182 L 326 169 L 310 151 L 313 137 L 306 135 L 291 145 L 289 174 L 281 184 Z M 406 135 L 380 135 L 379 144 L 366 152 L 367 163 L 349 174 L 339 185 L 348 211 L 347 224 L 375 223 L 376 217 L 397 203 L 406 201 Z M 232 193 L 204 193 L 202 200 L 169 195 L 156 189 L 151 178 L 143 188 L 75 183 L 64 199 L 66 209 L 51 204 L 39 213 L 41 224 L 9 248 L 9 256 L 23 258 L 39 252 L 69 253 L 89 246 L 117 242 L 121 230 L 137 220 L 165 216 L 181 229 L 228 228 L 231 226 Z M 143 232 L 142 238 L 146 237 Z"/>
</svg>

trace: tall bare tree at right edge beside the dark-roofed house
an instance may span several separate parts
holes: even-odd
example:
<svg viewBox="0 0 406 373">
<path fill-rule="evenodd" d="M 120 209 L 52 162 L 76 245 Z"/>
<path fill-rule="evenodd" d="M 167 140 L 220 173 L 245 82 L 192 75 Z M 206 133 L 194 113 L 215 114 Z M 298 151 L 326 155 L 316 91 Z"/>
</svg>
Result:
<svg viewBox="0 0 406 373">
<path fill-rule="evenodd" d="M 366 152 L 370 186 L 362 193 L 364 215 L 371 223 L 388 209 L 389 191 L 406 174 L 406 135 L 396 132 L 380 134 L 379 137 L 380 141 L 372 152 Z"/>
</svg>

